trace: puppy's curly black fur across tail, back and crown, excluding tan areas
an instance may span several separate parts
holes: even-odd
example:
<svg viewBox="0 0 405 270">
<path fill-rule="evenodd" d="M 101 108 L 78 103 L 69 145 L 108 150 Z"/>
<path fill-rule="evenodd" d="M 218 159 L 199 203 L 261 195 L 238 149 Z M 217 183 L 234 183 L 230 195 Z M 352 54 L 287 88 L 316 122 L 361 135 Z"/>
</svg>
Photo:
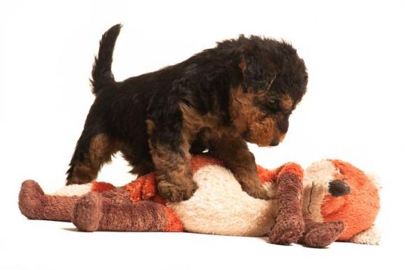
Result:
<svg viewBox="0 0 405 270">
<path fill-rule="evenodd" d="M 179 152 L 183 132 L 179 104 L 195 109 L 199 115 L 217 115 L 218 127 L 232 127 L 230 90 L 235 87 L 241 86 L 244 92 L 287 94 L 293 101 L 293 108 L 306 91 L 304 62 L 290 44 L 242 35 L 217 43 L 215 48 L 179 64 L 116 82 L 111 63 L 120 29 L 121 25 L 117 24 L 101 38 L 91 80 L 96 99 L 67 171 L 68 184 L 94 180 L 91 179 L 94 175 L 78 179 L 75 168 L 84 164 L 92 171 L 100 169 L 102 164 L 91 164 L 93 154 L 89 152 L 91 140 L 98 134 L 107 136 L 110 143 L 108 153 L 103 155 L 119 150 L 133 166 L 134 173 L 147 173 L 154 169 L 149 146 L 160 143 Z M 277 104 L 268 106 L 263 100 L 258 101 L 257 106 L 268 115 L 279 111 Z M 287 131 L 290 111 L 285 113 L 283 123 L 278 123 L 281 133 Z M 154 123 L 150 136 L 145 120 Z M 201 134 L 202 130 L 195 132 Z M 199 152 L 209 148 L 209 145 L 200 145 L 199 136 L 191 142 L 191 150 Z M 105 160 L 108 158 L 102 159 Z"/>
</svg>

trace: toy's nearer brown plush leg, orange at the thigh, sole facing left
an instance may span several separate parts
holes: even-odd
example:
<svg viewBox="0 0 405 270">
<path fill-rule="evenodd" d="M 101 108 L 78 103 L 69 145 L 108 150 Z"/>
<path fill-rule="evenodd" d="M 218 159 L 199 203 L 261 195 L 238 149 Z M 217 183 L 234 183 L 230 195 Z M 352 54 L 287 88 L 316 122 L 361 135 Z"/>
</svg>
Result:
<svg viewBox="0 0 405 270">
<path fill-rule="evenodd" d="M 89 192 L 73 210 L 73 224 L 84 232 L 181 232 L 182 223 L 162 204 L 133 202 L 124 187 Z"/>
</svg>

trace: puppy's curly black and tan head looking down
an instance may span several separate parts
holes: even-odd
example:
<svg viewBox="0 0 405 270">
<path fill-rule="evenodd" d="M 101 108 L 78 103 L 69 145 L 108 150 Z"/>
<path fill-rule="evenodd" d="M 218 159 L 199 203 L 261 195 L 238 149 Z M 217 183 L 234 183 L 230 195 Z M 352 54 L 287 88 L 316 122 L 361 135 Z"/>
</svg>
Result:
<svg viewBox="0 0 405 270">
<path fill-rule="evenodd" d="M 258 36 L 237 40 L 242 83 L 230 92 L 230 116 L 250 143 L 275 146 L 307 90 L 304 61 L 288 43 Z"/>
</svg>

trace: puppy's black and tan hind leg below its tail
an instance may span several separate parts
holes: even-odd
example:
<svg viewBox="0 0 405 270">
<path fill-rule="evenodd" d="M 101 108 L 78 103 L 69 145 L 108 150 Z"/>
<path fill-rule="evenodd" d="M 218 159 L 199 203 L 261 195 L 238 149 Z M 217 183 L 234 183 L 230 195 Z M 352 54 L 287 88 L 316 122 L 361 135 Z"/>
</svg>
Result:
<svg viewBox="0 0 405 270">
<path fill-rule="evenodd" d="M 117 151 L 111 138 L 97 128 L 84 128 L 66 172 L 66 185 L 96 180 L 98 171 Z"/>
</svg>

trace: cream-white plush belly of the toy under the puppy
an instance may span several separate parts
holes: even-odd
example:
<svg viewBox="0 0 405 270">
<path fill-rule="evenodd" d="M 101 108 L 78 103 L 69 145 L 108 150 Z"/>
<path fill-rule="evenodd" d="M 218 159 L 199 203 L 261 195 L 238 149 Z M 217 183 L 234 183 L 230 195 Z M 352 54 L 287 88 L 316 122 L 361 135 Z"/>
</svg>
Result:
<svg viewBox="0 0 405 270">
<path fill-rule="evenodd" d="M 205 166 L 193 179 L 198 184 L 193 197 L 168 205 L 188 232 L 263 236 L 270 231 L 274 224 L 272 202 L 250 197 L 228 169 Z"/>
</svg>

